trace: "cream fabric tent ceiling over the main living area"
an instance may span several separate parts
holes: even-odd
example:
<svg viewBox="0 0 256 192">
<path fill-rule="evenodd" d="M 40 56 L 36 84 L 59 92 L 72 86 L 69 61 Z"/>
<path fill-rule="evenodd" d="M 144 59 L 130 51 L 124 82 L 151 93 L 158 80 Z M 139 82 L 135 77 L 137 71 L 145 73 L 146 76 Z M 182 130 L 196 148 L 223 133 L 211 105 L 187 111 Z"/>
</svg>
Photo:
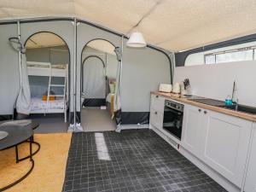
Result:
<svg viewBox="0 0 256 192">
<path fill-rule="evenodd" d="M 0 20 L 77 16 L 126 35 L 147 15 L 148 44 L 174 51 L 255 33 L 255 13 L 255 0 L 0 0 Z"/>
</svg>

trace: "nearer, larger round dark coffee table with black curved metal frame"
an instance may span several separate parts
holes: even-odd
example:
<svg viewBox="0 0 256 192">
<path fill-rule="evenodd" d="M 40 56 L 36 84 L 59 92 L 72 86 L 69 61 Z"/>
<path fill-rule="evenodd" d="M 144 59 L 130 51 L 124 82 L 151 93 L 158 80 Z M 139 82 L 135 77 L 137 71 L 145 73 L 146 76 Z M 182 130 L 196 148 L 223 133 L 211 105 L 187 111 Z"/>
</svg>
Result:
<svg viewBox="0 0 256 192">
<path fill-rule="evenodd" d="M 14 183 L 10 183 L 9 185 L 0 189 L 0 191 L 3 191 L 5 189 L 9 189 L 10 187 L 14 186 L 17 183 L 20 183 L 20 181 L 22 181 L 32 172 L 32 169 L 34 167 L 34 160 L 32 159 L 33 129 L 30 126 L 3 125 L 3 126 L 0 126 L 0 131 L 8 132 L 8 136 L 0 140 L 0 151 L 14 147 L 16 163 L 19 163 L 21 160 L 26 160 L 26 159 L 30 159 L 30 161 L 32 162 L 32 165 L 29 171 L 26 172 L 25 175 L 20 177 Z M 29 142 L 30 153 L 25 158 L 19 159 L 18 145 L 24 142 Z"/>
</svg>

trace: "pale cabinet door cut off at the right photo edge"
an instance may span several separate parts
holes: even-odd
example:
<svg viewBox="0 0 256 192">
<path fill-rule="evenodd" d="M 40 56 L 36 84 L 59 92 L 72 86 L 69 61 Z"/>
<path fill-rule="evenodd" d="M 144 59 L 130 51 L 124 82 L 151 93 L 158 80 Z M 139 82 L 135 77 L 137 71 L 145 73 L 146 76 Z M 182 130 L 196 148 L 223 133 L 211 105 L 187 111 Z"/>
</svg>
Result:
<svg viewBox="0 0 256 192">
<path fill-rule="evenodd" d="M 253 123 L 253 142 L 250 151 L 249 164 L 247 167 L 247 177 L 245 192 L 256 192 L 256 123 Z"/>
</svg>

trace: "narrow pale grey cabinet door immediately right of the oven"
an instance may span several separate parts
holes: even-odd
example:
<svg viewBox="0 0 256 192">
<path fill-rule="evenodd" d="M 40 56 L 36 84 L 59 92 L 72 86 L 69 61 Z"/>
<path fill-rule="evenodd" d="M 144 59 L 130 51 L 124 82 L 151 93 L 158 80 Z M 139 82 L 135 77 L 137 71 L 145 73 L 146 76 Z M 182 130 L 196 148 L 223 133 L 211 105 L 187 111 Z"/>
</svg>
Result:
<svg viewBox="0 0 256 192">
<path fill-rule="evenodd" d="M 185 105 L 183 113 L 182 146 L 190 153 L 200 156 L 201 108 Z"/>
</svg>

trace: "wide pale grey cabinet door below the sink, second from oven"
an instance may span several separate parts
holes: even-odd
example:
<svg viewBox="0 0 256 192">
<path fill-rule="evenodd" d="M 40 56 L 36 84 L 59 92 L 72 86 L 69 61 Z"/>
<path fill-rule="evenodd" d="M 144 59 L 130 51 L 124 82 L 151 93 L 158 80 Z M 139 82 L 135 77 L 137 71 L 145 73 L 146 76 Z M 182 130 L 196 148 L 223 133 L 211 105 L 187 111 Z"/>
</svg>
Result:
<svg viewBox="0 0 256 192">
<path fill-rule="evenodd" d="M 253 123 L 212 111 L 203 116 L 203 160 L 241 187 Z"/>
</svg>

